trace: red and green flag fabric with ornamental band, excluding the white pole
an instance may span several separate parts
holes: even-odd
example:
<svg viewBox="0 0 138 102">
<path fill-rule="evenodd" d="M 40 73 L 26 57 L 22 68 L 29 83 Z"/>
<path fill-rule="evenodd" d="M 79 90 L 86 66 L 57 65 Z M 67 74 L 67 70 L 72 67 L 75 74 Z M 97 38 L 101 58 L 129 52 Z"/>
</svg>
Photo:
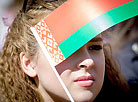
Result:
<svg viewBox="0 0 138 102">
<path fill-rule="evenodd" d="M 102 31 L 138 14 L 137 0 L 68 0 L 34 28 L 57 65 Z"/>
</svg>

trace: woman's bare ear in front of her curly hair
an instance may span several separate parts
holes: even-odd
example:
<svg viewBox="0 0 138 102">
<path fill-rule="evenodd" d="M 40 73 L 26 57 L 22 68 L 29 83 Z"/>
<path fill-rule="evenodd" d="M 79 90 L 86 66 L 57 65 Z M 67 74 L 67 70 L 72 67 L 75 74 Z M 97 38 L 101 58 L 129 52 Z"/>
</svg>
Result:
<svg viewBox="0 0 138 102">
<path fill-rule="evenodd" d="M 35 66 L 33 62 L 25 55 L 24 52 L 20 53 L 21 67 L 25 74 L 30 77 L 36 77 Z"/>
</svg>

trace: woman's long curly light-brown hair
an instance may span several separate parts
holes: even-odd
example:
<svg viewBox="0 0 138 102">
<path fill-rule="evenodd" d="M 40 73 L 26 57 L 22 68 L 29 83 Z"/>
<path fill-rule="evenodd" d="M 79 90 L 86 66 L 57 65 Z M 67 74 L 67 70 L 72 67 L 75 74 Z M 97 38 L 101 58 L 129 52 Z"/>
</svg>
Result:
<svg viewBox="0 0 138 102">
<path fill-rule="evenodd" d="M 27 76 L 22 71 L 19 55 L 21 52 L 25 52 L 25 55 L 29 56 L 31 59 L 37 55 L 38 43 L 30 31 L 30 27 L 36 25 L 40 20 L 61 5 L 64 0 L 49 2 L 41 0 L 30 1 L 26 11 L 21 11 L 11 25 L 1 52 L 0 102 L 43 101 L 34 79 Z M 32 2 L 33 4 L 31 4 Z M 107 55 L 107 53 L 105 54 Z M 111 74 L 111 76 L 114 77 L 112 78 L 121 82 L 118 69 L 108 60 L 109 59 L 106 58 L 106 65 L 108 64 L 109 66 L 109 76 L 110 73 L 114 73 Z M 113 69 L 110 70 L 111 68 Z"/>
</svg>

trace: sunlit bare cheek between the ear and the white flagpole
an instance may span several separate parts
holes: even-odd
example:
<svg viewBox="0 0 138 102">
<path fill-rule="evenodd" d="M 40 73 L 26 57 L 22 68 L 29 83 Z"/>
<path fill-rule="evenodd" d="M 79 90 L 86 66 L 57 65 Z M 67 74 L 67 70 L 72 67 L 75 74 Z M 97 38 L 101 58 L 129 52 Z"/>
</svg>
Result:
<svg viewBox="0 0 138 102">
<path fill-rule="evenodd" d="M 42 86 L 44 90 L 55 94 L 64 93 L 64 89 L 46 58 L 39 59 L 36 71 L 39 85 Z"/>
</svg>

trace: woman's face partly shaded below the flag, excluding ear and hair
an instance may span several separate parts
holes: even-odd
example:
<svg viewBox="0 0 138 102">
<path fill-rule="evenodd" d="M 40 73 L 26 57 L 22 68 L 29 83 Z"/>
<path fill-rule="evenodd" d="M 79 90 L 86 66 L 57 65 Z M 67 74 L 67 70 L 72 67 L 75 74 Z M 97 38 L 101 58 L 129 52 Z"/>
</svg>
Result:
<svg viewBox="0 0 138 102">
<path fill-rule="evenodd" d="M 98 35 L 56 66 L 75 102 L 91 102 L 99 93 L 105 71 L 102 48 L 103 41 L 101 35 Z M 69 100 L 41 50 L 36 66 L 39 90 L 42 96 L 47 97 L 48 93 L 56 101 Z"/>
</svg>

